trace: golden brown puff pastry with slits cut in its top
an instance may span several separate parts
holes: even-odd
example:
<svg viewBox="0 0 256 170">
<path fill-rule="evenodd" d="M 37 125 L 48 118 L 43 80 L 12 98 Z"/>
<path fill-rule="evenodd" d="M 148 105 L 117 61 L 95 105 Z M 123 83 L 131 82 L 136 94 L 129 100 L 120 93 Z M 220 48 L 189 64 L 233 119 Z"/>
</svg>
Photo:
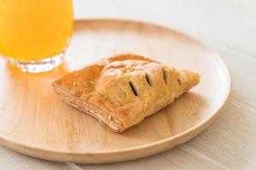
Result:
<svg viewBox="0 0 256 170">
<path fill-rule="evenodd" d="M 171 104 L 199 79 L 192 71 L 122 54 L 70 72 L 53 87 L 67 104 L 96 117 L 113 132 L 122 132 Z"/>
</svg>

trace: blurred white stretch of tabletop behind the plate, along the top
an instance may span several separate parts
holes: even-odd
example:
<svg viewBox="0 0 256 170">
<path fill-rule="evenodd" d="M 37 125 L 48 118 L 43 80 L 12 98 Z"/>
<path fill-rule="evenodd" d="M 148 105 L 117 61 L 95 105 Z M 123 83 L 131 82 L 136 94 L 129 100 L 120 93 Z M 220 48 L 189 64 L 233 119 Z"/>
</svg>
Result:
<svg viewBox="0 0 256 170">
<path fill-rule="evenodd" d="M 211 40 L 256 54 L 256 2 L 254 0 L 94 0 L 74 1 L 75 17 L 144 20 L 185 31 L 200 40 Z M 98 5 L 101 4 L 101 5 Z M 90 8 L 86 8 L 90 6 Z M 83 10 L 85 9 L 86 10 Z"/>
</svg>

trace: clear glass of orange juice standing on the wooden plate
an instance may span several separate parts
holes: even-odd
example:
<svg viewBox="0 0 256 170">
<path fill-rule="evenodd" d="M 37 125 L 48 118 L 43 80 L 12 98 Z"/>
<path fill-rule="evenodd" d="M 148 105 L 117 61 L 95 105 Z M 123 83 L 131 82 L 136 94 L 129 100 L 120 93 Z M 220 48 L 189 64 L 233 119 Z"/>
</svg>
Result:
<svg viewBox="0 0 256 170">
<path fill-rule="evenodd" d="M 60 65 L 72 31 L 72 0 L 0 0 L 0 54 L 21 71 Z"/>
</svg>

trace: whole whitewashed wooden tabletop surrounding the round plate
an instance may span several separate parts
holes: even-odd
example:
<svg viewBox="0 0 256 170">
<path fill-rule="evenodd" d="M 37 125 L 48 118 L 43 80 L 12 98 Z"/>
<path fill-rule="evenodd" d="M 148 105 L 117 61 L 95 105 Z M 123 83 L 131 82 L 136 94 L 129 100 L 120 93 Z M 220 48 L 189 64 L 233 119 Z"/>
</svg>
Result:
<svg viewBox="0 0 256 170">
<path fill-rule="evenodd" d="M 170 26 L 206 42 L 230 68 L 230 99 L 195 139 L 137 161 L 78 165 L 0 147 L 0 169 L 256 169 L 255 0 L 74 0 L 75 18 L 125 18 Z"/>
</svg>

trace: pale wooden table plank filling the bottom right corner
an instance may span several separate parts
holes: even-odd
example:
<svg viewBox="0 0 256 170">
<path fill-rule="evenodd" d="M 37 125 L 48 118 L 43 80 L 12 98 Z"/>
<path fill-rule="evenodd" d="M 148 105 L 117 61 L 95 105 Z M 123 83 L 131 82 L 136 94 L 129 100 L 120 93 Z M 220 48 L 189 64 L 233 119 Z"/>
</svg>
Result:
<svg viewBox="0 0 256 170">
<path fill-rule="evenodd" d="M 207 133 L 192 140 L 189 146 L 231 169 L 255 169 L 256 109 L 230 98 L 221 112 Z"/>
</svg>

